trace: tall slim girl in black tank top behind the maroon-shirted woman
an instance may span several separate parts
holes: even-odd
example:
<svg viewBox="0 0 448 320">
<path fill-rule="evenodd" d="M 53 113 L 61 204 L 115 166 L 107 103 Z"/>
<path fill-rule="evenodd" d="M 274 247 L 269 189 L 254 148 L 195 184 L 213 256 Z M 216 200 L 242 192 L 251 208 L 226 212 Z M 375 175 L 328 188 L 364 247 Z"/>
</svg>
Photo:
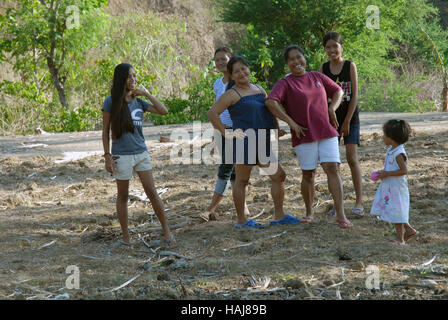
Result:
<svg viewBox="0 0 448 320">
<path fill-rule="evenodd" d="M 358 74 L 356 65 L 342 57 L 344 46 L 342 37 L 336 32 L 327 33 L 323 40 L 324 49 L 330 61 L 324 63 L 320 72 L 339 84 L 344 91 L 341 105 L 336 110 L 339 124 L 339 138 L 344 138 L 347 162 L 352 174 L 356 193 L 356 203 L 352 209 L 353 215 L 364 215 L 362 200 L 362 173 L 358 160 L 360 142 L 360 124 L 358 102 Z M 333 210 L 332 210 L 333 211 Z M 332 211 L 330 211 L 332 213 Z"/>
</svg>

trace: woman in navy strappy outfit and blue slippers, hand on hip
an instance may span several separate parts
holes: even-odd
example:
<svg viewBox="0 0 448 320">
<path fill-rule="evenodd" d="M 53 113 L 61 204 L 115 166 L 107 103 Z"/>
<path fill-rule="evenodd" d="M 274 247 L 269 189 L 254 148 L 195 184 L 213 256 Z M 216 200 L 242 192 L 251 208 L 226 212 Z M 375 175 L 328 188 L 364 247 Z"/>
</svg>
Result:
<svg viewBox="0 0 448 320">
<path fill-rule="evenodd" d="M 231 81 L 227 85 L 227 91 L 218 99 L 207 113 L 213 127 L 226 139 L 232 136 L 233 157 L 226 162 L 235 164 L 235 188 L 233 189 L 233 200 L 237 212 L 236 228 L 263 228 L 259 222 L 248 220 L 244 212 L 246 198 L 246 185 L 249 182 L 250 173 L 254 165 L 265 170 L 271 168 L 270 164 L 263 158 L 272 159 L 270 146 L 270 130 L 276 128 L 275 118 L 265 105 L 266 92 L 263 88 L 250 82 L 250 70 L 244 58 L 232 57 L 227 64 Z M 233 121 L 233 133 L 219 119 L 219 115 L 228 109 Z M 245 132 L 243 132 L 243 130 Z M 231 144 L 231 143 L 230 143 Z M 226 142 L 227 145 L 227 142 Z M 238 146 L 240 145 L 240 146 Z M 263 150 L 264 149 L 264 150 Z M 224 151 L 223 151 L 224 152 Z M 265 158 L 265 159 L 266 159 Z M 297 223 L 300 220 L 283 212 L 284 181 L 286 178 L 278 160 L 275 160 L 277 170 L 268 172 L 272 180 L 271 195 L 274 200 L 275 220 L 271 225 Z"/>
</svg>

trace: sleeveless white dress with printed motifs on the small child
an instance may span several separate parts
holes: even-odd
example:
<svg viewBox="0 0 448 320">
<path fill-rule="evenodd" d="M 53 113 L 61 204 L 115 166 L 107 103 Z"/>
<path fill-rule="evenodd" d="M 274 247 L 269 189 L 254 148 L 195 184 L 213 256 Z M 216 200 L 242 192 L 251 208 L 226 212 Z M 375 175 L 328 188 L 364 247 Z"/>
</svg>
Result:
<svg viewBox="0 0 448 320">
<path fill-rule="evenodd" d="M 404 146 L 401 144 L 395 149 L 392 149 L 391 146 L 386 152 L 384 171 L 400 170 L 396 160 L 400 153 L 405 155 L 407 166 L 408 156 Z M 409 222 L 409 189 L 406 175 L 381 180 L 373 199 L 370 214 L 378 215 L 381 220 L 390 223 Z"/>
</svg>

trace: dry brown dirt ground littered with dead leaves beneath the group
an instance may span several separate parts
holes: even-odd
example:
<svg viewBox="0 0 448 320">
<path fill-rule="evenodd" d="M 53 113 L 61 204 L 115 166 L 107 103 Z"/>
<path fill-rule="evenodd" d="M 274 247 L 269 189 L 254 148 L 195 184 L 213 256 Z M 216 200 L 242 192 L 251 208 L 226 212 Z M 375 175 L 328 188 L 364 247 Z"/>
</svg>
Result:
<svg viewBox="0 0 448 320">
<path fill-rule="evenodd" d="M 381 124 L 393 116 L 361 116 L 367 213 L 378 186 L 369 176 L 385 155 Z M 420 232 L 404 247 L 389 243 L 393 227 L 369 214 L 352 218 L 353 229 L 340 229 L 328 215 L 332 201 L 321 168 L 313 224 L 236 230 L 230 191 L 217 220 L 201 222 L 217 166 L 171 164 L 172 144 L 158 139 L 180 126 L 164 126 L 144 132 L 177 244 L 161 247 L 159 223 L 134 177 L 129 223 L 136 246 L 129 250 L 117 242 L 116 186 L 102 156 L 55 163 L 64 150 L 100 152 L 100 132 L 0 137 L 0 299 L 447 299 L 448 115 L 399 117 L 415 129 L 406 151 L 410 223 Z M 301 173 L 290 135 L 279 151 L 287 173 L 284 208 L 301 217 Z M 355 197 L 344 148 L 341 155 L 349 215 Z M 262 213 L 257 221 L 269 225 L 270 180 L 258 170 L 247 203 L 251 216 Z M 69 266 L 79 270 L 79 289 L 67 288 Z M 376 289 L 368 286 L 375 276 Z"/>
</svg>

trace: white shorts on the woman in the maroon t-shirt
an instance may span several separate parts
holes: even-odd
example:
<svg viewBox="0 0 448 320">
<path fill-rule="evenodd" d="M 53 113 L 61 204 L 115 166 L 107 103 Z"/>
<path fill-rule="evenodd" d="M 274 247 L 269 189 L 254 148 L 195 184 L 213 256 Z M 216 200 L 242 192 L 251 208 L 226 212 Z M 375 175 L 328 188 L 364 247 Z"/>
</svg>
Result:
<svg viewBox="0 0 448 320">
<path fill-rule="evenodd" d="M 302 170 L 314 170 L 319 162 L 341 163 L 338 137 L 299 144 L 294 150 Z"/>
</svg>

